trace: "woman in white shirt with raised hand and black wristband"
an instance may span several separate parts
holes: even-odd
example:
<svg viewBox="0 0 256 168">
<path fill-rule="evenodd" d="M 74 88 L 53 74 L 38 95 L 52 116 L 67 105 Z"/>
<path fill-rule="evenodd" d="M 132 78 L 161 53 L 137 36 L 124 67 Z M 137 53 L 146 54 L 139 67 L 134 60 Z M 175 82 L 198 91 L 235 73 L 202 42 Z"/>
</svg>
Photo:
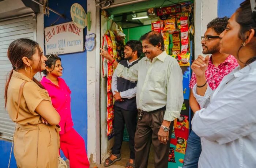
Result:
<svg viewBox="0 0 256 168">
<path fill-rule="evenodd" d="M 192 129 L 201 138 L 199 168 L 256 167 L 256 2 L 246 0 L 220 36 L 220 52 L 236 57 L 239 66 L 212 91 L 205 80 L 209 62 L 199 56 L 191 68 L 194 96 L 201 110 Z"/>
</svg>

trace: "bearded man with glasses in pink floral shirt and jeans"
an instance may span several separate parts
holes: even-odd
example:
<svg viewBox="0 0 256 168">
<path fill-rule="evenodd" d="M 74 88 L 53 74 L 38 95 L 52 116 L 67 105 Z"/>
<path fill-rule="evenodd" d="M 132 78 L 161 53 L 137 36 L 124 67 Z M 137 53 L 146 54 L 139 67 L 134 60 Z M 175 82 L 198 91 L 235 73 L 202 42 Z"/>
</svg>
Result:
<svg viewBox="0 0 256 168">
<path fill-rule="evenodd" d="M 228 20 L 229 18 L 227 17 L 215 18 L 207 24 L 207 30 L 201 38 L 203 54 L 212 54 L 205 73 L 207 84 L 212 90 L 215 90 L 218 87 L 225 75 L 229 74 L 236 68 L 236 66 L 238 66 L 236 58 L 219 52 L 219 34 L 225 30 Z M 200 110 L 199 104 L 192 92 L 192 88 L 195 84 L 196 76 L 193 73 L 189 84 L 189 104 L 193 112 Z M 202 146 L 200 137 L 198 137 L 192 130 L 187 141 L 183 168 L 197 168 L 201 151 Z"/>
</svg>

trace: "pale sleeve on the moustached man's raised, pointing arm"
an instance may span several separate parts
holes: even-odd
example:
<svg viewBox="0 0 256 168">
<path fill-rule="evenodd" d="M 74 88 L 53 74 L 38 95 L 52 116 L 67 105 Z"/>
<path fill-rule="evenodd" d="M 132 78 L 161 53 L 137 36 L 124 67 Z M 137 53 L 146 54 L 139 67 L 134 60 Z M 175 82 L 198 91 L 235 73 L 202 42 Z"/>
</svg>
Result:
<svg viewBox="0 0 256 168">
<path fill-rule="evenodd" d="M 138 80 L 139 63 L 133 65 L 131 68 L 125 68 L 124 65 L 118 64 L 116 67 L 117 77 L 122 77 L 130 81 Z"/>
</svg>

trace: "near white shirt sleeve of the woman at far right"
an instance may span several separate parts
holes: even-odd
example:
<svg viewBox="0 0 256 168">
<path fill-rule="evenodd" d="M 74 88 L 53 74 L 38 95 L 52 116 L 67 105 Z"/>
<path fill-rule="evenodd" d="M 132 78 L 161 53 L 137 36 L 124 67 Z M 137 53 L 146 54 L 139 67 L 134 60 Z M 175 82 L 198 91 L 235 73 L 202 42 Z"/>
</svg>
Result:
<svg viewBox="0 0 256 168">
<path fill-rule="evenodd" d="M 241 87 L 242 86 L 242 87 Z M 255 81 L 238 81 L 197 111 L 192 130 L 199 137 L 225 144 L 256 131 Z"/>
</svg>

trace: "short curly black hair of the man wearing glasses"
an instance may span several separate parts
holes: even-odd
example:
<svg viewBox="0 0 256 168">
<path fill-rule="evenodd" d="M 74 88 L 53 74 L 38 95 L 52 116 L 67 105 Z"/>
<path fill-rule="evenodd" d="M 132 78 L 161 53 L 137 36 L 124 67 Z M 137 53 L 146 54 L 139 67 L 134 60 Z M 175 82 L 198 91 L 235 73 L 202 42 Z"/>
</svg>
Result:
<svg viewBox="0 0 256 168">
<path fill-rule="evenodd" d="M 227 16 L 223 18 L 215 18 L 207 24 L 207 28 L 212 28 L 217 34 L 221 34 L 227 27 L 229 18 Z"/>
</svg>

